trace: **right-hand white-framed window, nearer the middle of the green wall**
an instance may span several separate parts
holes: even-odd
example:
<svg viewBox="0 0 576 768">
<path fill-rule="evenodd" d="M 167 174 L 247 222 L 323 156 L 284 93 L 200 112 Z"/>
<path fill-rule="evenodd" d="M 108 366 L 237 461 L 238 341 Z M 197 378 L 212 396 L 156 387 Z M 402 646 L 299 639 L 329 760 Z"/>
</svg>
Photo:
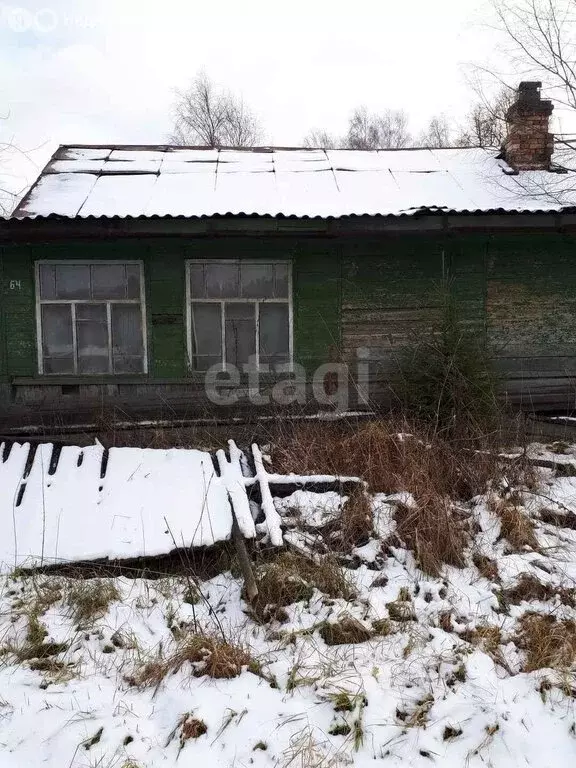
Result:
<svg viewBox="0 0 576 768">
<path fill-rule="evenodd" d="M 288 262 L 191 261 L 187 281 L 194 370 L 291 361 Z"/>
</svg>

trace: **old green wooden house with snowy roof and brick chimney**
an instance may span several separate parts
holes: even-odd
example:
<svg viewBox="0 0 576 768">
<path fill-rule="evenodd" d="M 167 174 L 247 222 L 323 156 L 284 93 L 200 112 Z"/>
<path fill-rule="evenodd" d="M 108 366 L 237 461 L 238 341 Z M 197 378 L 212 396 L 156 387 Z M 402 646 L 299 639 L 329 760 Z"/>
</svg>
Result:
<svg viewBox="0 0 576 768">
<path fill-rule="evenodd" d="M 551 112 L 522 83 L 493 150 L 60 147 L 0 222 L 2 423 L 385 403 L 446 281 L 503 394 L 573 408 L 576 154 Z"/>
</svg>

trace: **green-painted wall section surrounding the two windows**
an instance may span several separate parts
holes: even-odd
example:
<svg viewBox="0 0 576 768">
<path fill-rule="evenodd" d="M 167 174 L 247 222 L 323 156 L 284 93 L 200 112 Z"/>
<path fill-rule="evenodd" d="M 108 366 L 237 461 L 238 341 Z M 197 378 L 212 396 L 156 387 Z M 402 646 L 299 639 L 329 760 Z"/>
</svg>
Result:
<svg viewBox="0 0 576 768">
<path fill-rule="evenodd" d="M 308 369 L 334 358 L 340 348 L 341 267 L 333 245 L 262 237 L 38 243 L 0 250 L 0 330 L 9 329 L 0 343 L 0 376 L 38 376 L 35 261 L 117 258 L 144 264 L 149 375 L 186 377 L 185 261 L 212 257 L 290 259 L 295 359 Z"/>
</svg>

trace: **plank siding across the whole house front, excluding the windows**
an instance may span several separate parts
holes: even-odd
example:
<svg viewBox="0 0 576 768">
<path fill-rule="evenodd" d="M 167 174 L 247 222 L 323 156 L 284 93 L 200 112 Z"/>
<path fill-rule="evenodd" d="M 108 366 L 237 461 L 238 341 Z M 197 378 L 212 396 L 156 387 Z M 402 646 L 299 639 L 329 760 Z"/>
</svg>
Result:
<svg viewBox="0 0 576 768">
<path fill-rule="evenodd" d="M 148 375 L 40 377 L 35 261 L 116 258 L 144 265 Z M 440 321 L 448 280 L 459 316 L 485 340 L 510 400 L 527 408 L 576 407 L 574 235 L 288 231 L 2 246 L 5 407 L 74 410 L 109 399 L 127 412 L 155 402 L 166 414 L 171 403 L 199 402 L 202 380 L 189 370 L 185 313 L 184 264 L 195 258 L 291 260 L 295 362 L 308 376 L 339 360 L 354 372 L 358 350 L 368 349 L 371 395 L 383 403 L 404 351 Z"/>
</svg>

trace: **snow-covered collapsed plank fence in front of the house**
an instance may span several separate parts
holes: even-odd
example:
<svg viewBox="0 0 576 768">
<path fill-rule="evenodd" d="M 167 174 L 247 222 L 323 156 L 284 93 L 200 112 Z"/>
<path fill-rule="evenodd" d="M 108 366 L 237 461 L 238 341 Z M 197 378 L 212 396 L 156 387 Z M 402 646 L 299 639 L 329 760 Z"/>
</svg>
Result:
<svg viewBox="0 0 576 768">
<path fill-rule="evenodd" d="M 0 444 L 0 569 L 99 559 L 154 557 L 257 532 L 281 546 L 281 518 L 271 487 L 314 483 L 317 476 L 256 469 L 234 441 L 229 457 L 194 449 L 87 448 Z M 218 470 L 216 470 L 218 467 Z M 321 476 L 322 482 L 358 482 Z M 261 509 L 248 498 L 258 487 Z M 253 505 L 254 506 L 254 505 Z M 258 525 L 256 517 L 263 518 Z"/>
</svg>

